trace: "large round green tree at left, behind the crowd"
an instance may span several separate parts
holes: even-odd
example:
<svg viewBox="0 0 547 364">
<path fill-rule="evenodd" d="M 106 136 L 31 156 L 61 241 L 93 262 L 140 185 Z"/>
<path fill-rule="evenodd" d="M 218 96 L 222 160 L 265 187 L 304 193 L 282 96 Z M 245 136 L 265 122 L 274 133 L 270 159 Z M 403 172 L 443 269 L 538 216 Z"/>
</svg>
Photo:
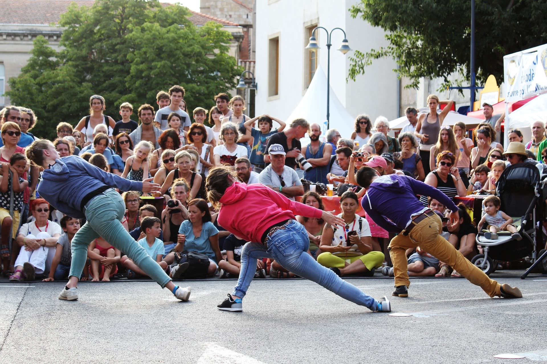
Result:
<svg viewBox="0 0 547 364">
<path fill-rule="evenodd" d="M 9 80 L 14 104 L 33 109 L 33 133 L 54 138 L 60 121 L 75 125 L 89 112 L 89 97 L 102 95 L 105 115 L 118 118 L 119 105 L 149 103 L 172 85 L 187 90 L 189 106 L 208 108 L 214 94 L 235 87 L 241 73 L 228 55 L 231 40 L 222 26 L 196 27 L 179 5 L 158 0 L 98 0 L 72 3 L 61 15 L 64 27 L 56 52 L 43 37 L 34 41 L 28 64 Z"/>
</svg>

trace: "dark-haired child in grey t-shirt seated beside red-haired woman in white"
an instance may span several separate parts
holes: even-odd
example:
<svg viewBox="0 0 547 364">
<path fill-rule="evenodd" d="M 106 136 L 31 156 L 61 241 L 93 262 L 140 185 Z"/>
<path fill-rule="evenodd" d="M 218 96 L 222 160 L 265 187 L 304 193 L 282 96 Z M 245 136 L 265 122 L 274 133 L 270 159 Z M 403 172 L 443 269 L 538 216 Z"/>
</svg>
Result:
<svg viewBox="0 0 547 364">
<path fill-rule="evenodd" d="M 72 262 L 71 242 L 72 238 L 76 234 L 76 231 L 80 229 L 80 220 L 70 216 L 64 216 L 61 219 L 61 228 L 65 234 L 59 237 L 57 245 L 55 246 L 55 255 L 53 261 L 51 261 L 51 268 L 49 270 L 48 278 L 44 278 L 44 282 L 62 281 L 68 278 L 68 272 L 70 271 L 70 265 Z M 88 277 L 84 274 L 80 281 L 87 281 Z"/>
</svg>

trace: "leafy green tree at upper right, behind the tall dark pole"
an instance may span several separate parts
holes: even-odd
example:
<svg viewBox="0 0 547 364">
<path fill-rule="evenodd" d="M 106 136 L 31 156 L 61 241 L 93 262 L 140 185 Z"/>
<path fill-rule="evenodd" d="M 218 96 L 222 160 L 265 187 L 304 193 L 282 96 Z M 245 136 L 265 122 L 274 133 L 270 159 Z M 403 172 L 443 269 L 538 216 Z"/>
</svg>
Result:
<svg viewBox="0 0 547 364">
<path fill-rule="evenodd" d="M 350 58 L 348 78 L 355 80 L 374 59 L 393 58 L 408 87 L 420 77 L 451 73 L 470 80 L 471 2 L 461 0 L 361 0 L 350 9 L 371 25 L 384 29 L 389 45 Z M 493 74 L 503 80 L 503 56 L 542 44 L 547 36 L 547 2 L 534 0 L 476 0 L 475 65 L 478 82 Z M 461 80 L 458 81 L 461 83 Z"/>
</svg>

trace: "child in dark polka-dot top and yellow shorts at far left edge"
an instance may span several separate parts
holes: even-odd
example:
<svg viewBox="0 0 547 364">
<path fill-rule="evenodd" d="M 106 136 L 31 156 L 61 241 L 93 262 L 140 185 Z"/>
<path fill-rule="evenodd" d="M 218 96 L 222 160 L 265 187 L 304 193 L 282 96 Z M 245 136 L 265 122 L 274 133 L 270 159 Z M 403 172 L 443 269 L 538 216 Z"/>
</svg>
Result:
<svg viewBox="0 0 547 364">
<path fill-rule="evenodd" d="M 21 208 L 23 206 L 23 194 L 28 186 L 28 181 L 21 178 L 25 174 L 27 159 L 22 153 L 14 153 L 9 159 L 9 164 L 2 164 L 2 176 L 0 176 L 0 225 L 2 226 L 2 260 L 4 271 L 8 270 L 9 255 L 9 231 L 11 238 L 15 242 L 17 229 L 19 228 L 19 219 Z M 13 177 L 9 176 L 9 171 Z M 14 182 L 13 182 L 14 181 Z M 9 214 L 10 194 L 13 186 L 13 217 Z M 11 254 L 19 254 L 18 244 L 12 243 L 13 251 Z"/>
</svg>

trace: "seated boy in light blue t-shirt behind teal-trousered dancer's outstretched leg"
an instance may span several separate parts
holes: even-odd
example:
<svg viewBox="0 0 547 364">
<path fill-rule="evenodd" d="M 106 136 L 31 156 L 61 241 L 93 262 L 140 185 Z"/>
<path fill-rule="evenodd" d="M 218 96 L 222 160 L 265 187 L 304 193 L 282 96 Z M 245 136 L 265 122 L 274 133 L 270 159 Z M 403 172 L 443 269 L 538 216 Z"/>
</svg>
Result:
<svg viewBox="0 0 547 364">
<path fill-rule="evenodd" d="M 158 262 L 161 268 L 166 270 L 168 265 L 165 261 L 161 260 L 165 254 L 164 242 L 158 238 L 161 232 L 160 219 L 150 216 L 145 217 L 141 220 L 141 229 L 144 231 L 145 236 L 137 243 L 146 250 L 152 259 Z M 137 276 L 148 277 L 141 268 L 131 259 L 127 258 L 127 255 L 121 258 L 121 264 L 127 268 L 127 278 L 129 279 L 136 278 Z"/>
</svg>

